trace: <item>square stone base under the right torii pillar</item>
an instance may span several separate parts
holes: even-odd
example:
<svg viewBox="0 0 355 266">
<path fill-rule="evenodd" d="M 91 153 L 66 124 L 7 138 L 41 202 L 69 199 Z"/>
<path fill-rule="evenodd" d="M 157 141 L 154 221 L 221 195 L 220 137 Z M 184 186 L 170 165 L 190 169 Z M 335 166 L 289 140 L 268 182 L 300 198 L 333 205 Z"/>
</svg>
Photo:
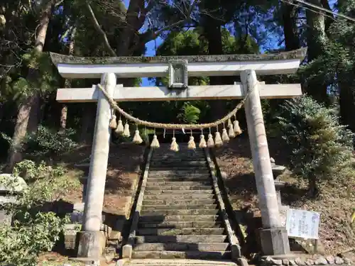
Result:
<svg viewBox="0 0 355 266">
<path fill-rule="evenodd" d="M 287 255 L 290 254 L 290 243 L 286 228 L 261 229 L 261 248 L 264 255 Z"/>
</svg>

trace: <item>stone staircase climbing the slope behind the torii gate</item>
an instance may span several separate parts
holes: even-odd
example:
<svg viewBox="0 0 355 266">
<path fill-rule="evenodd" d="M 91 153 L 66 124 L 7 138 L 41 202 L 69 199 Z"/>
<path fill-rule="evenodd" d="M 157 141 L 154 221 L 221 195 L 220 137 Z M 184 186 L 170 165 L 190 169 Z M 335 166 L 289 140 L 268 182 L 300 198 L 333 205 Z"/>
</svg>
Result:
<svg viewBox="0 0 355 266">
<path fill-rule="evenodd" d="M 151 151 L 123 257 L 238 257 L 239 246 L 209 162 L 204 150 L 187 150 L 187 145 L 180 145 L 178 153 L 168 145 Z"/>
</svg>

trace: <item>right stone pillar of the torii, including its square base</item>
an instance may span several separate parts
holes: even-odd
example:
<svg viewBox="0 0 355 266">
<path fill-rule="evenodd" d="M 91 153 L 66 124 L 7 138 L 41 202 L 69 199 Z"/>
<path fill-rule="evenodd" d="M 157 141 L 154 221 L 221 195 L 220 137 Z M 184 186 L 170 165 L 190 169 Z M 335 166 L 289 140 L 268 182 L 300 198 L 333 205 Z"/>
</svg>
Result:
<svg viewBox="0 0 355 266">
<path fill-rule="evenodd" d="M 266 255 L 286 255 L 290 253 L 290 243 L 278 209 L 256 72 L 253 70 L 241 72 L 241 83 L 244 93 L 249 93 L 244 107 L 258 190 L 258 205 L 263 222 L 263 229 L 260 231 L 261 247 Z"/>
</svg>

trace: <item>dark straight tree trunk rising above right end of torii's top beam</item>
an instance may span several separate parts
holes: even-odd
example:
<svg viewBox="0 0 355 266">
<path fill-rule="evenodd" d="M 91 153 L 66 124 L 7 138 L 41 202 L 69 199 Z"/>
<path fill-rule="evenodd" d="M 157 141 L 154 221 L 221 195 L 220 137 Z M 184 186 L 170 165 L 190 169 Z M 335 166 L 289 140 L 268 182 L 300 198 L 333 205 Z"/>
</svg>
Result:
<svg viewBox="0 0 355 266">
<path fill-rule="evenodd" d="M 298 38 L 297 24 L 295 21 L 295 6 L 282 2 L 281 8 L 283 13 L 285 50 L 297 50 L 300 48 L 300 38 Z"/>
</svg>

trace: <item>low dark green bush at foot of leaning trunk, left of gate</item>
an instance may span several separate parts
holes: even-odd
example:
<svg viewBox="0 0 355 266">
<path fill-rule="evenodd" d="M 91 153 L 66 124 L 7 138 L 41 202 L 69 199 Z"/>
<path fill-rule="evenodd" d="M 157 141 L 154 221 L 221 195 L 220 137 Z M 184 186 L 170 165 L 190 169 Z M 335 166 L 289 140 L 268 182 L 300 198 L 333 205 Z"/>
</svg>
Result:
<svg viewBox="0 0 355 266">
<path fill-rule="evenodd" d="M 37 132 L 26 138 L 26 153 L 35 156 L 60 155 L 72 150 L 77 143 L 72 140 L 75 131 L 68 128 L 58 133 L 45 126 L 39 126 Z"/>
</svg>

